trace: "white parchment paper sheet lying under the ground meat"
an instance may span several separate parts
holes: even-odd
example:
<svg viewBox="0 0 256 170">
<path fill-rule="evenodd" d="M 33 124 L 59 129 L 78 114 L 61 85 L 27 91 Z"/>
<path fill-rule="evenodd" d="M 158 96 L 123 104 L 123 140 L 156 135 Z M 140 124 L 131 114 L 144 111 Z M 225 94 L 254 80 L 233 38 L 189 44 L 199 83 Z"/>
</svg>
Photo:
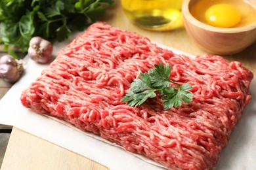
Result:
<svg viewBox="0 0 256 170">
<path fill-rule="evenodd" d="M 60 48 L 65 48 L 70 41 L 71 39 L 54 44 L 54 54 L 56 55 Z M 177 54 L 182 53 L 173 48 L 169 49 Z M 38 64 L 26 57 L 24 67 L 26 71 L 22 78 L 12 86 L 11 90 L 0 101 L 0 124 L 16 126 L 37 137 L 95 160 L 110 169 L 163 169 L 158 166 L 158 163 L 154 165 L 154 161 L 144 157 L 139 158 L 137 155 L 126 152 L 123 148 L 108 143 L 108 141 L 104 141 L 91 133 L 85 134 L 72 126 L 67 126 L 41 114 L 35 114 L 32 110 L 23 107 L 20 103 L 20 93 L 28 88 L 30 83 L 47 67 L 47 64 Z M 253 78 L 251 83 L 253 95 L 251 103 L 247 105 L 242 120 L 238 122 L 232 132 L 228 146 L 221 153 L 217 169 L 256 169 L 255 79 Z"/>
</svg>

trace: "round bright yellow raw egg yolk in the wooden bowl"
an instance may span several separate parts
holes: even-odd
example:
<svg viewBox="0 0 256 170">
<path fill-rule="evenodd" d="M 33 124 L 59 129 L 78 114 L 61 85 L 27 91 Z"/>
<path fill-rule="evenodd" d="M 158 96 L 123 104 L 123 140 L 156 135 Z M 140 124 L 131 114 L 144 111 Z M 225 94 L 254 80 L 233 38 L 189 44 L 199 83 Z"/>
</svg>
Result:
<svg viewBox="0 0 256 170">
<path fill-rule="evenodd" d="M 221 3 L 206 10 L 205 20 L 214 27 L 233 27 L 240 22 L 241 13 L 236 7 Z"/>
</svg>

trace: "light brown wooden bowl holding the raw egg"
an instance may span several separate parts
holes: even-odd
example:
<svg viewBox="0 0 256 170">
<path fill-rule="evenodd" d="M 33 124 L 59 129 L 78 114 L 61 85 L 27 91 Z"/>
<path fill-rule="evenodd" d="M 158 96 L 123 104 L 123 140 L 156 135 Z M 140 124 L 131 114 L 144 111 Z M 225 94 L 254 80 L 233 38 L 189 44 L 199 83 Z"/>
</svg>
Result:
<svg viewBox="0 0 256 170">
<path fill-rule="evenodd" d="M 188 35 L 205 52 L 211 54 L 236 54 L 256 41 L 256 22 L 244 27 L 220 28 L 203 24 L 190 14 L 197 0 L 184 0 L 182 14 Z M 256 0 L 250 0 L 256 5 Z"/>
</svg>

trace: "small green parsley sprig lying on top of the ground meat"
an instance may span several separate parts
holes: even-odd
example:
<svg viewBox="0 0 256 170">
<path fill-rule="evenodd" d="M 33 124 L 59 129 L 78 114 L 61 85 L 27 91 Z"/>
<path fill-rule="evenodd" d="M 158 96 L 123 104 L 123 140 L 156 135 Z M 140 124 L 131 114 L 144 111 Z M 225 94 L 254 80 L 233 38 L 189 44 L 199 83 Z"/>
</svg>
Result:
<svg viewBox="0 0 256 170">
<path fill-rule="evenodd" d="M 131 90 L 122 97 L 121 101 L 128 102 L 129 106 L 139 106 L 148 98 L 154 98 L 158 94 L 162 95 L 163 109 L 171 109 L 182 105 L 182 101 L 190 103 L 193 93 L 188 83 L 178 84 L 169 79 L 171 67 L 167 63 L 165 67 L 162 63 L 155 65 L 156 69 L 150 69 L 148 73 L 140 73 L 140 79 L 136 78 L 131 83 Z M 170 86 L 175 84 L 175 86 Z M 158 94 L 156 93 L 158 92 Z"/>
</svg>

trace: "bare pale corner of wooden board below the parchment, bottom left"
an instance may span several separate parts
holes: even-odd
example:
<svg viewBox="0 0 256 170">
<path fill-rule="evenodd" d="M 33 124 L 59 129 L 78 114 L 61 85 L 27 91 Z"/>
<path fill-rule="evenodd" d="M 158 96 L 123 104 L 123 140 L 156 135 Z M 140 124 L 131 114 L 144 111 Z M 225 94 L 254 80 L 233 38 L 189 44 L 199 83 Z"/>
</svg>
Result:
<svg viewBox="0 0 256 170">
<path fill-rule="evenodd" d="M 108 168 L 14 127 L 1 169 L 106 170 Z"/>
</svg>

